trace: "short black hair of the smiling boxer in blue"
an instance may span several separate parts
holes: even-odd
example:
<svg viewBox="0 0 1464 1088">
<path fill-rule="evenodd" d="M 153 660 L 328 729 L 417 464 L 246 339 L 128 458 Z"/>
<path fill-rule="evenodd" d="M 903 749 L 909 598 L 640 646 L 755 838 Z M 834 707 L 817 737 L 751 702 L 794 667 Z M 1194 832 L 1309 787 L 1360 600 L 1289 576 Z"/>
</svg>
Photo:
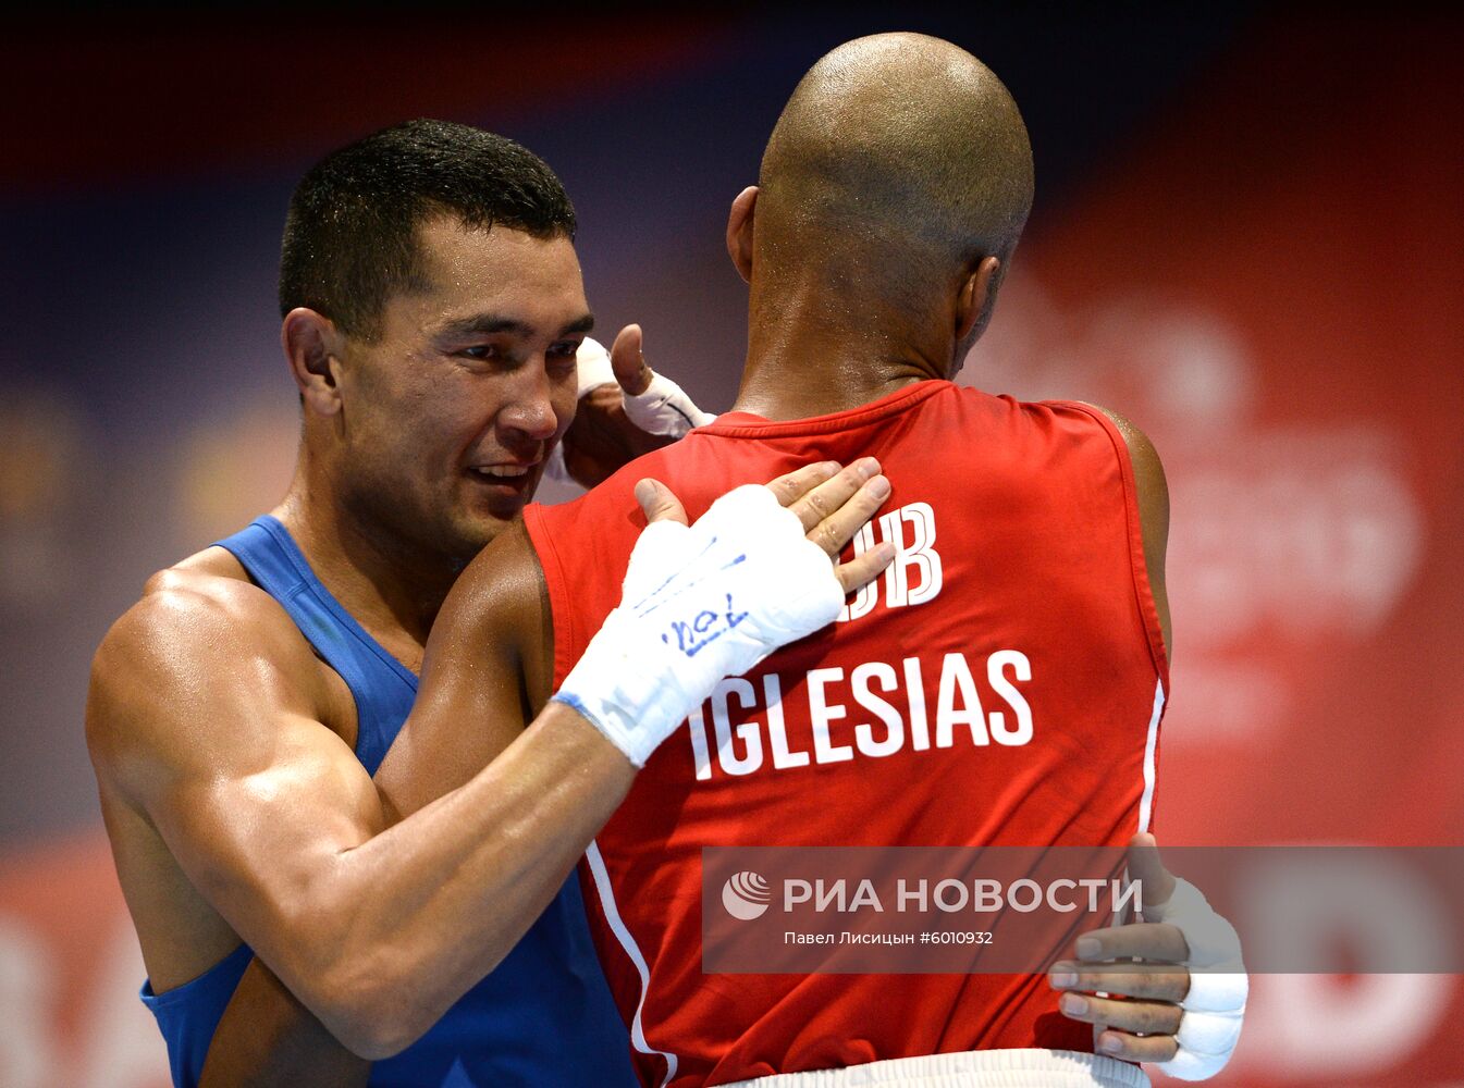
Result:
<svg viewBox="0 0 1464 1088">
<path fill-rule="evenodd" d="M 574 237 L 574 205 L 553 170 L 520 144 L 419 119 L 332 151 L 296 186 L 280 252 L 280 316 L 324 313 L 373 340 L 397 291 L 423 283 L 417 227 L 438 215 L 537 239 Z"/>
</svg>

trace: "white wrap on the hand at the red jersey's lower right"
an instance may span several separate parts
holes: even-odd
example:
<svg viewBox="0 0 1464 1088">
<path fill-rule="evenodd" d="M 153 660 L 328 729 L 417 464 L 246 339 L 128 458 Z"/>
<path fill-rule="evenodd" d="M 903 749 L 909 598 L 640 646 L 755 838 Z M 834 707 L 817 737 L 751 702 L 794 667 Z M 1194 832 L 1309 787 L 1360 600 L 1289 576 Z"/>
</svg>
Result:
<svg viewBox="0 0 1464 1088">
<path fill-rule="evenodd" d="M 1180 1002 L 1184 1012 L 1174 1037 L 1180 1048 L 1158 1066 L 1180 1081 L 1203 1081 L 1224 1069 L 1240 1041 L 1250 990 L 1240 961 L 1240 934 L 1187 880 L 1174 882 L 1168 902 L 1145 905 L 1143 917 L 1179 927 L 1190 950 L 1190 988 Z"/>
</svg>

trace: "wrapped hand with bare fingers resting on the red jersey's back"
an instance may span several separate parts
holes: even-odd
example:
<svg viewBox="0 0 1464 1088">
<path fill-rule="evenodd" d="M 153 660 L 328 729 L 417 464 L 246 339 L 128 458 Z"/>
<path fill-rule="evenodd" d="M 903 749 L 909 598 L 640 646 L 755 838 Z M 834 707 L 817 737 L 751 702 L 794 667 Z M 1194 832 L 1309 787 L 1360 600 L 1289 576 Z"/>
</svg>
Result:
<svg viewBox="0 0 1464 1088">
<path fill-rule="evenodd" d="M 874 458 L 736 488 L 694 526 L 671 491 L 637 485 L 647 517 L 621 605 L 555 694 L 643 766 L 725 677 L 833 622 L 893 558 L 839 551 L 889 496 Z"/>
</svg>

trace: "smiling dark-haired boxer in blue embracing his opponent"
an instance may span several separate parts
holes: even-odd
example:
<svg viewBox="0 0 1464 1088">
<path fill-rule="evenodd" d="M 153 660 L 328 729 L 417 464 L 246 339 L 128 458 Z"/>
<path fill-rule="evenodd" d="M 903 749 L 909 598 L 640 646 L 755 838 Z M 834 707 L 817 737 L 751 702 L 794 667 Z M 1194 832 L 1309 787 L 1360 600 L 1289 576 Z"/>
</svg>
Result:
<svg viewBox="0 0 1464 1088">
<path fill-rule="evenodd" d="M 370 778 L 398 732 L 445 715 L 467 766 L 492 728 L 439 697 L 479 671 L 445 649 L 466 628 L 438 614 L 473 556 L 514 532 L 575 414 L 593 316 L 572 231 L 548 165 L 442 122 L 326 157 L 291 202 L 280 296 L 303 406 L 294 480 L 271 514 L 148 581 L 98 649 L 88 696 L 143 1002 L 176 1085 L 240 1079 L 227 1054 L 205 1062 L 262 964 L 312 1025 L 388 1059 L 376 1085 L 628 1084 L 565 876 L 703 688 L 826 624 L 878 568 L 830 559 L 887 493 L 870 458 L 783 473 L 690 529 L 647 483 L 654 556 L 627 584 L 678 603 L 637 611 L 632 595 L 586 657 L 591 679 L 534 728 L 515 713 L 501 759 L 398 819 Z M 719 549 L 735 554 L 697 567 Z M 473 570 L 474 599 L 511 592 L 490 565 Z M 692 677 L 653 652 L 706 593 L 739 619 Z M 606 697 L 624 720 L 602 732 L 574 707 Z M 275 1038 L 256 1022 L 252 1041 Z M 365 1069 L 347 1057 L 344 1072 Z"/>
</svg>

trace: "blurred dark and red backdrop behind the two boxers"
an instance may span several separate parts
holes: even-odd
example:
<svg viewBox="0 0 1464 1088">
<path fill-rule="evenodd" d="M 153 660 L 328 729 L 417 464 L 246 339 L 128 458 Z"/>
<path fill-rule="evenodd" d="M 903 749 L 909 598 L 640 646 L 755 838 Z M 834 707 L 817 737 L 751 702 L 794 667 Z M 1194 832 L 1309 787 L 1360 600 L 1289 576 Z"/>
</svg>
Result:
<svg viewBox="0 0 1464 1088">
<path fill-rule="evenodd" d="M 32 23 L 0 50 L 0 1084 L 165 1082 L 86 666 L 149 571 L 283 491 L 299 173 L 411 116 L 521 139 L 580 209 L 602 329 L 641 321 L 714 410 L 726 204 L 799 73 L 896 28 L 984 57 L 1032 129 L 1038 205 L 962 379 L 1114 407 L 1168 469 L 1161 843 L 1460 843 L 1461 19 Z M 1461 1013 L 1449 975 L 1258 977 L 1215 1084 L 1464 1084 Z"/>
</svg>

